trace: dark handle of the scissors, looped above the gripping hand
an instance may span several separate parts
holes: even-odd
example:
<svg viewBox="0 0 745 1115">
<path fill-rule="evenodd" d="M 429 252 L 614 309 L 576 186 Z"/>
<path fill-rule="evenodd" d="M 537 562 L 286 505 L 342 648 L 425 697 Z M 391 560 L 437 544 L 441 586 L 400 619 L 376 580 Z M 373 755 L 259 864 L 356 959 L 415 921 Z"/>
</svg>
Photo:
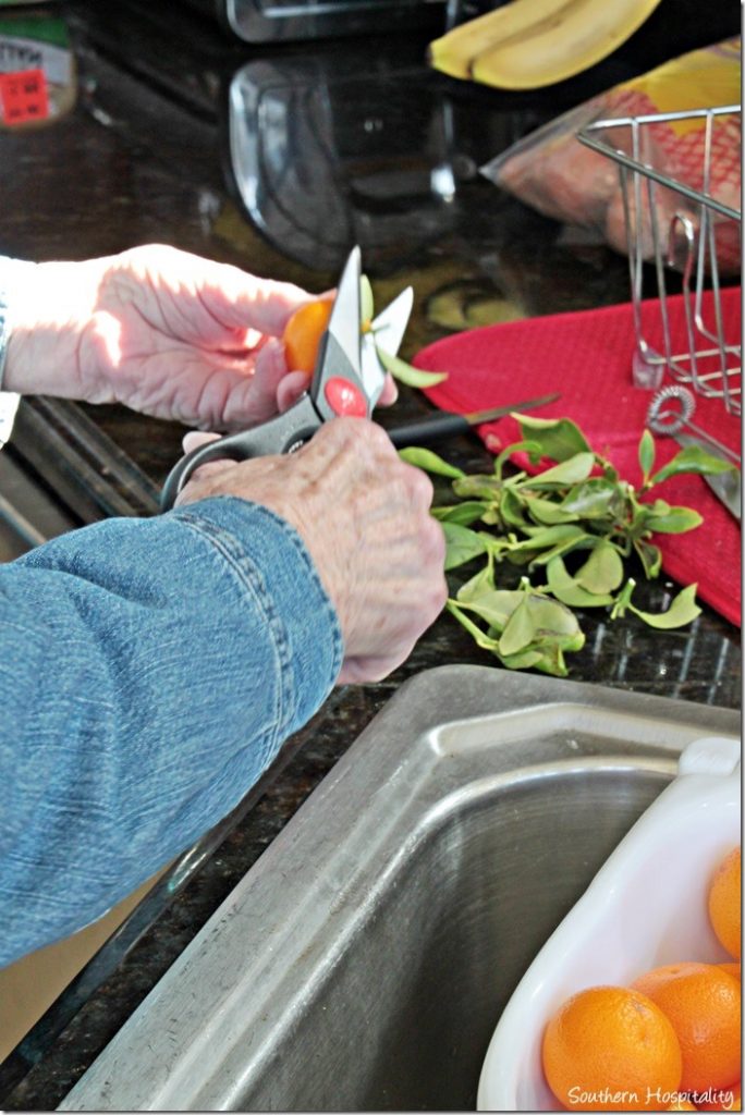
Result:
<svg viewBox="0 0 745 1115">
<path fill-rule="evenodd" d="M 292 453 L 308 442 L 322 423 L 323 418 L 306 392 L 284 414 L 261 426 L 229 434 L 192 449 L 168 473 L 161 492 L 161 511 L 173 507 L 176 496 L 201 465 L 210 460 L 248 460 L 272 453 Z"/>
</svg>

